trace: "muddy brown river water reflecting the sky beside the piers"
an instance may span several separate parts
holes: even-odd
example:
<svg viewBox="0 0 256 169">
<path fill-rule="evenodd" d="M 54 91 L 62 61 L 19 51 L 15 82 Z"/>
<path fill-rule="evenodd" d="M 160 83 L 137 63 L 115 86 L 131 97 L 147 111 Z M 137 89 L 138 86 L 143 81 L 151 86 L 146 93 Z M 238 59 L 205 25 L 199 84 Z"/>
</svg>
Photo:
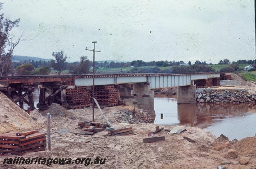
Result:
<svg viewBox="0 0 256 169">
<path fill-rule="evenodd" d="M 176 98 L 155 97 L 154 109 L 156 124 L 199 127 L 217 137 L 224 134 L 229 140 L 240 140 L 256 134 L 255 104 L 177 105 Z"/>
</svg>

